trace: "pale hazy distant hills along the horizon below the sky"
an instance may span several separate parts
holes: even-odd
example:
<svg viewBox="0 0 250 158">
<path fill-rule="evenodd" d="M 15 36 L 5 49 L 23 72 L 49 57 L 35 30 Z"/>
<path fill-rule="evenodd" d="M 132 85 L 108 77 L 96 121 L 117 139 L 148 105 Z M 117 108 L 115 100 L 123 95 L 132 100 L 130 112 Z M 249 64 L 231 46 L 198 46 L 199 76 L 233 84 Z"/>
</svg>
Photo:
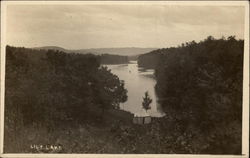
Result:
<svg viewBox="0 0 250 158">
<path fill-rule="evenodd" d="M 45 50 L 53 49 L 53 50 L 64 51 L 67 53 L 74 52 L 74 53 L 80 53 L 80 54 L 92 53 L 95 55 L 112 54 L 112 55 L 123 55 L 123 56 L 138 56 L 140 54 L 145 54 L 153 50 L 156 50 L 158 48 L 124 47 L 124 48 L 91 48 L 91 49 L 70 50 L 70 49 L 64 49 L 62 47 L 57 47 L 57 46 L 45 46 L 45 47 L 35 47 L 33 49 L 45 49 Z"/>
</svg>

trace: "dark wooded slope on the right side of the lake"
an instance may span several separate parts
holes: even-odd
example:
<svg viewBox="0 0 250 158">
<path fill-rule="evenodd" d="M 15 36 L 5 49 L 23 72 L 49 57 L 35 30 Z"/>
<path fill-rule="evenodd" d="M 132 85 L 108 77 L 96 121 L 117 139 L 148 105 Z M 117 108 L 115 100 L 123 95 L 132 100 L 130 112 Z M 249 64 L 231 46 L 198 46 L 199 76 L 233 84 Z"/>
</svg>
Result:
<svg viewBox="0 0 250 158">
<path fill-rule="evenodd" d="M 139 57 L 139 66 L 155 69 L 159 102 L 184 150 L 192 138 L 198 153 L 241 153 L 243 47 L 234 36 L 209 36 Z"/>
</svg>

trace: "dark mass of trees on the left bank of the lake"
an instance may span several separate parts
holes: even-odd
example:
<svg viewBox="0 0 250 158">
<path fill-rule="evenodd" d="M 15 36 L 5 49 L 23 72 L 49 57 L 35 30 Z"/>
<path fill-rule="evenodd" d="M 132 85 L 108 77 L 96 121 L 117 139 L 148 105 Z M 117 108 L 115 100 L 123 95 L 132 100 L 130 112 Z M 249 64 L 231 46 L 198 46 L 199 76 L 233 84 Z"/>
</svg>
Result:
<svg viewBox="0 0 250 158">
<path fill-rule="evenodd" d="M 25 127 L 53 131 L 68 121 L 101 121 L 126 100 L 124 82 L 98 56 L 6 47 L 6 148 L 14 150 Z"/>
</svg>

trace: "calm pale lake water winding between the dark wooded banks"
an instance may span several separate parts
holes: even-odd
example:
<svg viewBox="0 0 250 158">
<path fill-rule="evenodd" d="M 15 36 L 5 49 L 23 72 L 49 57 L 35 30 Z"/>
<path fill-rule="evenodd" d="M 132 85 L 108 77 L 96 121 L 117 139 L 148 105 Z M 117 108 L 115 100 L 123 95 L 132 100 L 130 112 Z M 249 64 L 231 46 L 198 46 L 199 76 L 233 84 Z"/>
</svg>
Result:
<svg viewBox="0 0 250 158">
<path fill-rule="evenodd" d="M 137 61 L 131 61 L 129 64 L 105 66 L 111 69 L 111 72 L 117 75 L 120 80 L 125 81 L 125 88 L 128 90 L 128 100 L 120 104 L 121 109 L 136 115 L 164 116 L 161 106 L 157 103 L 157 96 L 154 89 L 156 80 L 154 79 L 153 69 L 145 70 L 139 68 Z M 153 100 L 150 104 L 151 110 L 148 110 L 147 114 L 142 109 L 142 97 L 146 91 L 149 92 L 149 96 Z"/>
</svg>

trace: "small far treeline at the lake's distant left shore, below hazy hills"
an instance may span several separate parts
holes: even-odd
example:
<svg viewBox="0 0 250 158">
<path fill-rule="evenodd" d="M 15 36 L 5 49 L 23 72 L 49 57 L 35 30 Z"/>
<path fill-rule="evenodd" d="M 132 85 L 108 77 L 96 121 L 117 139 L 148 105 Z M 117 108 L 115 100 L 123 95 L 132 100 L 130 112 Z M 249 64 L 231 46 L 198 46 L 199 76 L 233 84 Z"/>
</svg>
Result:
<svg viewBox="0 0 250 158">
<path fill-rule="evenodd" d="M 128 57 L 121 55 L 111 55 L 111 54 L 102 54 L 100 55 L 101 64 L 127 64 Z"/>
</svg>

